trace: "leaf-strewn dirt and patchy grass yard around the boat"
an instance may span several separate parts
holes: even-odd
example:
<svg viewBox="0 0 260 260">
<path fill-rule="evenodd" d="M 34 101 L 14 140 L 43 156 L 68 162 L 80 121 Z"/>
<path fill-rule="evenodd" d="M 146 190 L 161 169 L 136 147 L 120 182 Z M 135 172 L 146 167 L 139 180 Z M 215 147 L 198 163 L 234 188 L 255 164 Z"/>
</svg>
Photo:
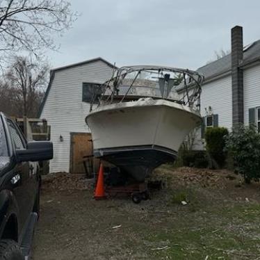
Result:
<svg viewBox="0 0 260 260">
<path fill-rule="evenodd" d="M 154 179 L 164 188 L 133 204 L 93 200 L 82 176 L 47 177 L 33 259 L 260 259 L 260 184 L 169 166 Z"/>
</svg>

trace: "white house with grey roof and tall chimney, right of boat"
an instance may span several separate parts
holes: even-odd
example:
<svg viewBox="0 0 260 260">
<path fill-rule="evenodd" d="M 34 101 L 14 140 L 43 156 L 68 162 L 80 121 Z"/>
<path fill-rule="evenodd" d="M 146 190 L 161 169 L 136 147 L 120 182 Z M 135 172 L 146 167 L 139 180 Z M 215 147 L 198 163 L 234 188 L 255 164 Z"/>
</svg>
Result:
<svg viewBox="0 0 260 260">
<path fill-rule="evenodd" d="M 254 123 L 260 131 L 260 40 L 243 47 L 243 28 L 231 29 L 231 54 L 198 70 L 204 75 L 203 126 L 195 149 L 202 149 L 206 127 Z M 202 138 L 202 139 L 201 139 Z"/>
</svg>

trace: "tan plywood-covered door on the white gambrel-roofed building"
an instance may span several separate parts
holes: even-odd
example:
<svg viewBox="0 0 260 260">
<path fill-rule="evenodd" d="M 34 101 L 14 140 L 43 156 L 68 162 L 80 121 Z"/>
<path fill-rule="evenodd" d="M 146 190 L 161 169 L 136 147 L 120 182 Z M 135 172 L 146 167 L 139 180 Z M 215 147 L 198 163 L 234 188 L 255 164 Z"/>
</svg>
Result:
<svg viewBox="0 0 260 260">
<path fill-rule="evenodd" d="M 70 172 L 86 173 L 83 162 L 92 156 L 91 133 L 71 133 L 70 151 Z"/>
</svg>

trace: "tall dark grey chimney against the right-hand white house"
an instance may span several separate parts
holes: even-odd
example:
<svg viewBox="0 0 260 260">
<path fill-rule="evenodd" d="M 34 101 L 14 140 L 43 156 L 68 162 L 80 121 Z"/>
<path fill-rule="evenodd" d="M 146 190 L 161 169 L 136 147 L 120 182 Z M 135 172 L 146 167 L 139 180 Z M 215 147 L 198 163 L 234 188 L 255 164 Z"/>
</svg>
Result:
<svg viewBox="0 0 260 260">
<path fill-rule="evenodd" d="M 232 119 L 233 127 L 244 122 L 243 70 L 243 27 L 231 29 L 231 76 L 232 76 Z"/>
</svg>

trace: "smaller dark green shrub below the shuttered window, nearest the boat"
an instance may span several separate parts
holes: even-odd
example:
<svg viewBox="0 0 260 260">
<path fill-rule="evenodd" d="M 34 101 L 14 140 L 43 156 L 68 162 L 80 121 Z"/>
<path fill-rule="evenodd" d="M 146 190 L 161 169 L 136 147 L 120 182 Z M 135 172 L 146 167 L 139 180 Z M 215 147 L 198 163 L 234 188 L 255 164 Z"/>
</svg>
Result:
<svg viewBox="0 0 260 260">
<path fill-rule="evenodd" d="M 206 129 L 206 151 L 213 161 L 222 168 L 225 165 L 227 152 L 225 152 L 225 136 L 228 135 L 225 127 L 212 127 Z"/>
</svg>

